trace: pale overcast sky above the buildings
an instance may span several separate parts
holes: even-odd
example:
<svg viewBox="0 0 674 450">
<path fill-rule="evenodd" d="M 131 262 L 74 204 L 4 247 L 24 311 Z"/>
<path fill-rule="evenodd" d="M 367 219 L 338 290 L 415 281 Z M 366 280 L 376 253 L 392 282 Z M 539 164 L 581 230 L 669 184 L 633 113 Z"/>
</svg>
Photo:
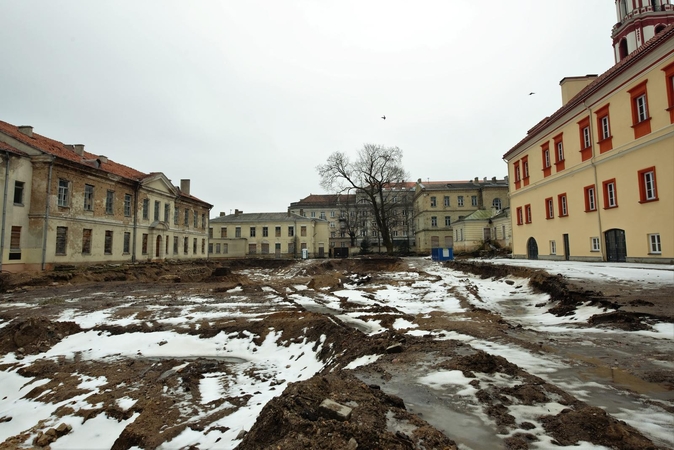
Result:
<svg viewBox="0 0 674 450">
<path fill-rule="evenodd" d="M 0 120 L 189 178 L 211 217 L 324 193 L 316 166 L 365 143 L 400 147 L 412 181 L 502 178 L 502 155 L 561 106 L 559 81 L 613 65 L 616 22 L 611 0 L 0 0 L 0 11 Z"/>
</svg>

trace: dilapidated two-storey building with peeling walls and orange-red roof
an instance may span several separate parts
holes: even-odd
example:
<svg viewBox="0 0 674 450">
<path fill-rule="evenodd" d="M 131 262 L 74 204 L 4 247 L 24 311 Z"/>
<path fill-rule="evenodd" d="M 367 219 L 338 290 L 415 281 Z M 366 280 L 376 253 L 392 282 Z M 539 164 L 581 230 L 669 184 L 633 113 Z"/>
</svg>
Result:
<svg viewBox="0 0 674 450">
<path fill-rule="evenodd" d="M 3 271 L 207 256 L 211 205 L 189 180 L 181 189 L 5 122 L 0 155 Z"/>
</svg>

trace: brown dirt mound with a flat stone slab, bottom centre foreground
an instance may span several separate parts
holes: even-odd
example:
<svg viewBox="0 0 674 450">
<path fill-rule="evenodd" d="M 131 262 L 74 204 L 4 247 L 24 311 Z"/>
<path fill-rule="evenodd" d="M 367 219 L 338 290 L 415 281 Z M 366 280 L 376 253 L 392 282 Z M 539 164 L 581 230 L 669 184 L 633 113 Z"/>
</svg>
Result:
<svg viewBox="0 0 674 450">
<path fill-rule="evenodd" d="M 338 413 L 325 400 L 342 407 Z M 237 447 L 258 449 L 456 449 L 403 401 L 348 373 L 293 383 L 270 401 Z"/>
</svg>

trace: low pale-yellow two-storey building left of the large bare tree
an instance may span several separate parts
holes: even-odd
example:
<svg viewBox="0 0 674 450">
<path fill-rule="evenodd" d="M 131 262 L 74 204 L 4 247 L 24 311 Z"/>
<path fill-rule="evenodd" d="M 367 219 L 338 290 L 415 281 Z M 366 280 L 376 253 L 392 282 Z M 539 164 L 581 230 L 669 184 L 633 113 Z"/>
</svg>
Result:
<svg viewBox="0 0 674 450">
<path fill-rule="evenodd" d="M 328 222 L 285 212 L 243 213 L 211 219 L 211 258 L 309 258 L 328 256 Z"/>
</svg>

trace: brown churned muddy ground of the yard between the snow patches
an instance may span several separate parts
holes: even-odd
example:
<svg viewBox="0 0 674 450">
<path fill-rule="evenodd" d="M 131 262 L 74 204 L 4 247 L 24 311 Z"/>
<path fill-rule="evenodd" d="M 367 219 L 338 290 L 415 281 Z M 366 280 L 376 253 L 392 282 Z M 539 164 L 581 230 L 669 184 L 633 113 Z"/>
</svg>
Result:
<svg viewBox="0 0 674 450">
<path fill-rule="evenodd" d="M 370 319 L 378 320 L 388 327 L 387 332 L 372 336 L 327 312 L 307 311 L 300 305 L 292 305 L 292 302 L 291 306 L 279 307 L 271 314 L 261 316 L 258 321 L 246 318 L 209 320 L 189 329 L 172 328 L 154 320 L 148 312 L 148 305 L 159 298 L 170 297 L 174 299 L 173 304 L 168 303 L 164 314 L 179 317 L 182 298 L 199 295 L 227 302 L 233 288 L 240 289 L 239 295 L 241 292 L 246 295 L 252 305 L 247 308 L 255 311 L 267 305 L 262 286 L 271 287 L 277 292 L 292 292 L 301 284 L 316 292 L 330 292 L 341 289 L 348 280 L 357 280 L 363 284 L 381 282 L 382 274 L 401 271 L 422 273 L 424 264 L 431 264 L 428 260 L 416 258 L 410 268 L 409 261 L 397 258 L 299 263 L 274 260 L 210 261 L 98 266 L 86 270 L 61 267 L 60 270 L 40 275 L 2 274 L 0 323 L 6 325 L 0 328 L 0 356 L 14 353 L 19 361 L 0 366 L 0 370 L 15 370 L 21 365 L 22 357 L 44 353 L 64 337 L 82 331 L 74 322 L 56 320 L 66 302 L 74 295 L 90 296 L 86 302 L 78 304 L 77 307 L 82 311 L 109 308 L 124 299 L 128 305 L 116 314 L 120 317 L 134 315 L 136 318 L 146 314 L 147 321 L 129 326 L 100 324 L 93 328 L 95 331 L 115 335 L 172 329 L 204 338 L 225 331 L 228 334 L 253 333 L 258 342 L 265 339 L 270 329 L 282 330 L 282 340 L 285 342 L 318 340 L 322 335 L 327 336 L 327 345 L 320 355 L 326 362 L 325 368 L 308 380 L 288 384 L 280 396 L 264 406 L 255 424 L 247 433 L 239 436 L 241 441 L 237 448 L 240 449 L 456 449 L 461 445 L 472 449 L 537 448 L 538 437 L 531 431 L 537 425 L 527 421 L 517 422 L 511 414 L 511 408 L 515 405 L 545 404 L 553 399 L 564 409 L 539 418 L 545 432 L 553 437 L 553 444 L 574 445 L 584 441 L 615 449 L 667 448 L 603 409 L 527 373 L 501 356 L 472 348 L 460 341 L 412 336 L 394 329 L 391 326 L 394 318 L 401 316 L 392 316 L 392 311 L 386 306 L 367 311 Z M 495 280 L 527 278 L 537 291 L 550 295 L 550 301 L 540 306 L 556 315 L 571 314 L 581 304 L 600 305 L 605 312 L 593 316 L 589 323 L 595 327 L 629 332 L 649 329 L 657 322 L 674 322 L 672 286 L 645 292 L 636 287 L 601 282 L 572 284 L 555 274 L 517 267 L 460 261 L 447 265 Z M 391 282 L 388 278 L 386 280 Z M 94 295 L 100 292 L 106 292 L 107 295 Z M 448 294 L 458 295 L 451 289 Z M 478 292 L 474 294 L 479 297 Z M 129 302 L 130 298 L 136 300 Z M 25 307 L 12 307 L 13 304 L 26 303 L 39 308 L 31 308 L 27 313 Z M 350 305 L 346 299 L 342 300 L 341 306 L 344 309 L 358 308 L 358 305 Z M 638 348 L 636 345 L 627 348 L 628 342 L 607 340 L 592 355 L 577 355 L 554 339 L 546 339 L 508 323 L 486 309 L 472 306 L 467 301 L 463 301 L 462 306 L 466 311 L 458 315 L 437 312 L 403 317 L 418 326 L 419 330 L 455 331 L 487 341 L 513 344 L 541 355 L 574 359 L 574 364 L 596 369 L 597 373 L 619 367 L 619 372 L 630 380 L 641 381 L 650 387 L 657 386 L 658 392 L 665 393 L 664 397 L 654 397 L 649 401 L 661 410 L 674 414 L 674 402 L 667 394 L 674 390 L 674 374 L 657 364 L 661 359 L 671 360 L 673 349 Z M 72 304 L 68 304 L 68 307 L 71 308 Z M 344 369 L 354 359 L 372 354 L 383 356 L 355 370 Z M 117 438 L 113 448 L 155 448 L 178 436 L 187 427 L 209 431 L 218 417 L 231 413 L 230 409 L 214 407 L 217 405 L 210 405 L 214 408 L 213 414 L 204 413 L 199 405 L 198 382 L 209 373 L 235 369 L 223 361 L 199 358 L 190 361 L 180 372 L 172 373 L 170 368 L 180 362 L 142 358 L 111 362 L 77 358 L 57 361 L 44 359 L 21 367 L 19 373 L 25 377 L 44 379 L 46 382 L 33 389 L 28 397 L 39 397 L 43 402 L 54 404 L 78 394 L 80 380 L 72 374 L 88 374 L 91 377 L 104 375 L 109 389 L 101 389 L 100 394 L 87 400 L 91 408 L 73 411 L 65 405 L 60 407 L 57 415 L 74 414 L 90 418 L 105 414 L 123 420 L 138 413 L 133 423 Z M 408 379 L 410 368 L 413 367 L 422 367 L 423 370 L 458 370 L 465 377 L 473 378 L 471 385 L 476 390 L 476 401 L 491 419 L 495 434 L 502 438 L 486 442 L 480 447 L 475 441 L 469 442 L 461 433 L 453 434 L 451 426 L 443 428 L 438 425 L 437 418 L 432 415 L 441 414 L 439 410 L 424 410 L 421 406 L 423 402 L 419 400 L 430 394 L 415 391 L 416 388 Z M 516 384 L 504 387 L 498 383 L 485 382 L 486 378 L 478 375 L 487 378 L 505 377 L 516 380 Z M 604 378 L 597 378 L 597 381 L 606 382 Z M 636 386 L 639 386 L 638 382 L 616 383 L 616 389 L 628 393 L 638 391 Z M 189 398 L 185 393 L 190 393 Z M 138 401 L 133 408 L 123 410 L 118 400 L 126 396 L 133 396 Z M 348 407 L 349 414 L 341 416 L 326 408 L 322 404 L 326 399 Z M 236 407 L 246 404 L 248 400 L 245 396 L 230 396 L 221 399 L 221 403 L 228 402 Z M 192 402 L 194 414 L 201 414 L 202 419 L 198 422 L 189 420 L 189 408 L 184 406 L 186 401 Z M 412 404 L 417 406 L 410 407 Z M 11 423 L 11 420 L 10 414 L 0 417 L 0 423 Z M 42 429 L 36 426 L 31 430 L 17 430 L 14 436 L 0 443 L 0 449 L 27 446 L 47 448 L 67 432 L 47 426 Z"/>
</svg>

